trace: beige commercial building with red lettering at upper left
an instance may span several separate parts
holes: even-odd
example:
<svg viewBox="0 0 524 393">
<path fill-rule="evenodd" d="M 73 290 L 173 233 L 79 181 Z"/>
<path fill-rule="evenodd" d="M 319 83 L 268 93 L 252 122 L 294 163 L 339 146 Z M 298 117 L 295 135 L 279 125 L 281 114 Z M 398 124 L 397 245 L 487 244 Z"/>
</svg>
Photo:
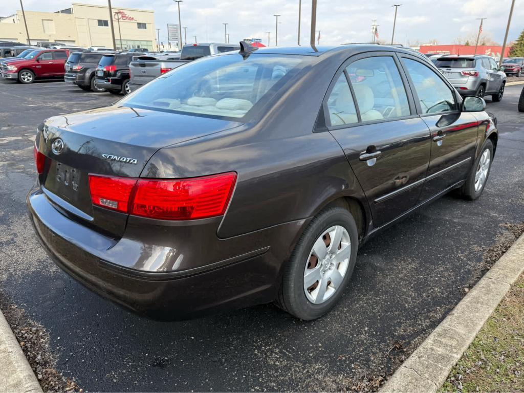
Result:
<svg viewBox="0 0 524 393">
<path fill-rule="evenodd" d="M 155 14 L 152 10 L 113 7 L 115 49 L 157 48 Z M 72 3 L 57 12 L 25 11 L 31 45 L 62 42 L 81 47 L 113 48 L 109 8 Z M 0 40 L 27 43 L 22 12 L 0 19 Z"/>
</svg>

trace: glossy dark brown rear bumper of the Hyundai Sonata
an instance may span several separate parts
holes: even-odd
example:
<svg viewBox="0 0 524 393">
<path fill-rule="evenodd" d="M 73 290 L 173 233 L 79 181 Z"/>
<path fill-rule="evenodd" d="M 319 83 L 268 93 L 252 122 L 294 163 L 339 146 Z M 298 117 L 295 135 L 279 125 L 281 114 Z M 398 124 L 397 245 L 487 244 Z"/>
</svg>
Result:
<svg viewBox="0 0 524 393">
<path fill-rule="evenodd" d="M 127 236 L 115 240 L 70 220 L 38 186 L 27 195 L 27 206 L 39 242 L 59 267 L 96 293 L 159 320 L 193 318 L 211 310 L 274 300 L 281 263 L 286 258 L 279 254 L 287 253 L 290 245 L 280 247 L 278 241 L 291 242 L 300 228 L 294 222 L 233 239 L 219 239 L 216 228 L 220 220 L 217 223 L 213 219 L 209 225 L 178 226 L 173 233 L 179 233 L 180 239 L 165 247 L 162 239 L 160 244 L 150 243 L 162 235 L 148 234 L 150 228 L 144 225 L 126 230 Z M 206 226 L 214 231 L 214 238 L 206 233 Z M 162 231 L 169 231 L 167 228 Z M 208 242 L 199 242 L 196 231 L 203 231 Z M 136 238 L 140 233 L 141 238 Z M 189 236 L 183 238 L 184 233 Z M 179 252 L 177 240 L 183 250 L 191 237 L 196 239 L 188 248 L 193 255 Z M 271 239 L 277 244 L 270 249 L 267 244 Z M 230 257 L 224 258 L 228 253 Z M 209 263 L 200 258 L 209 258 Z M 122 265 L 133 264 L 135 259 L 138 264 L 133 268 Z M 191 259 L 193 268 L 178 270 L 177 263 L 171 263 L 179 261 L 179 265 L 187 267 Z"/>
</svg>

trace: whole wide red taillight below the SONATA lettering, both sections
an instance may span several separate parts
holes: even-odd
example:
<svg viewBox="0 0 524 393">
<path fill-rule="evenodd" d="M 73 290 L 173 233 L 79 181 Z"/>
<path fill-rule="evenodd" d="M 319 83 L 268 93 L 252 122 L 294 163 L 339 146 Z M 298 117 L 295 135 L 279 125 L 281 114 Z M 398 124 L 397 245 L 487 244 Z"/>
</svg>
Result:
<svg viewBox="0 0 524 393">
<path fill-rule="evenodd" d="M 157 220 L 195 220 L 223 215 L 235 182 L 235 172 L 192 179 L 89 175 L 93 204 Z"/>
</svg>

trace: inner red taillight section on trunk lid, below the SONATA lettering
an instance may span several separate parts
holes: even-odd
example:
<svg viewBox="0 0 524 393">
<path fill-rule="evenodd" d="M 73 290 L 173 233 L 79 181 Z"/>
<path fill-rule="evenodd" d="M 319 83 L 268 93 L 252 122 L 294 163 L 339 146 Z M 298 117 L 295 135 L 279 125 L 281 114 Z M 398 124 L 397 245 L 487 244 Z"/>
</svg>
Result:
<svg viewBox="0 0 524 393">
<path fill-rule="evenodd" d="M 93 204 L 119 212 L 128 212 L 129 198 L 136 179 L 89 175 Z"/>
</svg>

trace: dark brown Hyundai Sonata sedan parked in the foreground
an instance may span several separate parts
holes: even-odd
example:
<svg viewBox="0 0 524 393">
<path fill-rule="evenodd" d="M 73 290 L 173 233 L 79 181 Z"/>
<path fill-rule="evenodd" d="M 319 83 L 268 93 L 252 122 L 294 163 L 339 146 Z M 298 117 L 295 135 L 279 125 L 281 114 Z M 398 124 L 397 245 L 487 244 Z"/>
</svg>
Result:
<svg viewBox="0 0 524 393">
<path fill-rule="evenodd" d="M 410 50 L 243 44 L 44 121 L 27 205 L 62 269 L 136 312 L 276 301 L 312 320 L 370 236 L 481 195 L 495 124 Z"/>
</svg>

